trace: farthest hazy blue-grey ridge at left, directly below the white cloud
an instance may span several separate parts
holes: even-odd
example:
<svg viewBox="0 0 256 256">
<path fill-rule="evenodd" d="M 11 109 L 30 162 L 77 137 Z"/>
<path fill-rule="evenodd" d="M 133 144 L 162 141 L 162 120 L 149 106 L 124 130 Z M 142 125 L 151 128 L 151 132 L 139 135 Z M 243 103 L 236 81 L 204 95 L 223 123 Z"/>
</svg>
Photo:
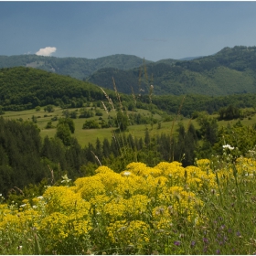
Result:
<svg viewBox="0 0 256 256">
<path fill-rule="evenodd" d="M 150 61 L 146 60 L 146 63 Z M 31 67 L 84 80 L 103 68 L 133 69 L 143 64 L 143 59 L 133 55 L 116 54 L 98 59 L 56 58 L 37 55 L 0 56 L 0 68 Z"/>
</svg>

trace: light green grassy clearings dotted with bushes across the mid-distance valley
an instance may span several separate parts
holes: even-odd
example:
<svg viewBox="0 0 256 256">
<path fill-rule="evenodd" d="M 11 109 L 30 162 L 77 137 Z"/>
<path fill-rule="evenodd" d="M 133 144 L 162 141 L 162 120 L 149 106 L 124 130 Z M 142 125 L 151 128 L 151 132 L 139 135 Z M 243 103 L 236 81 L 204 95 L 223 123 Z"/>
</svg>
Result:
<svg viewBox="0 0 256 256">
<path fill-rule="evenodd" d="M 86 108 L 87 110 L 90 110 L 91 107 Z M 79 113 L 80 109 L 69 109 L 69 112 L 72 111 L 77 111 Z M 106 112 L 104 112 L 104 110 L 101 109 L 102 112 L 102 118 L 104 120 L 107 120 L 108 118 L 108 114 Z M 131 112 L 129 112 L 131 113 Z M 151 113 L 147 110 L 141 110 L 138 109 L 137 113 L 141 113 L 144 116 L 150 116 Z M 115 116 L 116 112 L 112 111 L 109 112 L 109 115 L 111 116 Z M 22 118 L 23 121 L 32 121 L 32 116 L 36 116 L 37 117 L 37 127 L 40 129 L 40 134 L 42 136 L 42 138 L 44 138 L 45 136 L 49 136 L 49 137 L 53 137 L 56 133 L 56 128 L 51 128 L 51 129 L 46 129 L 46 125 L 49 121 L 51 121 L 51 118 L 57 116 L 58 118 L 64 117 L 63 115 L 63 109 L 59 108 L 59 107 L 55 107 L 55 111 L 54 112 L 45 112 L 43 110 L 43 108 L 41 108 L 41 110 L 39 112 L 36 112 L 36 110 L 28 110 L 28 111 L 22 111 L 22 112 L 5 112 L 5 114 L 3 115 L 3 117 L 7 118 L 7 119 L 20 119 Z M 217 115 L 213 115 L 214 117 L 217 117 Z M 154 114 L 154 118 L 161 121 L 161 116 L 159 114 Z M 111 140 L 112 138 L 112 132 L 116 129 L 115 127 L 113 128 L 105 128 L 105 129 L 90 129 L 90 130 L 84 130 L 82 129 L 82 125 L 86 120 L 99 120 L 99 116 L 93 116 L 90 118 L 77 118 L 77 119 L 73 119 L 74 123 L 75 123 L 75 133 L 73 134 L 74 137 L 76 137 L 80 143 L 81 146 L 87 145 L 89 143 L 94 144 L 96 142 L 96 139 L 99 138 L 101 141 L 104 138 L 107 138 L 109 140 Z M 195 128 L 198 128 L 198 124 L 197 121 L 195 120 L 189 120 L 187 118 L 178 118 L 178 120 L 176 120 L 176 123 L 174 125 L 173 128 L 173 133 L 176 132 L 176 128 L 177 128 L 177 123 L 179 121 L 182 121 L 185 125 L 185 127 L 188 127 L 189 123 L 193 123 Z M 219 127 L 221 126 L 227 126 L 228 123 L 230 125 L 233 125 L 235 123 L 237 123 L 239 120 L 231 120 L 231 121 L 219 121 Z M 256 123 L 256 117 L 255 115 L 251 117 L 251 119 L 249 118 L 244 118 L 243 120 L 241 120 L 241 123 L 244 125 L 252 125 L 253 123 Z M 52 121 L 52 125 L 53 126 L 57 126 L 58 121 Z M 137 137 L 137 138 L 141 138 L 144 137 L 144 133 L 146 131 L 146 129 L 148 129 L 149 133 L 151 136 L 154 136 L 156 134 L 161 134 L 161 133 L 171 133 L 172 131 L 172 127 L 173 127 L 174 122 L 162 122 L 161 123 L 161 128 L 157 129 L 157 123 L 155 123 L 153 125 L 153 127 L 150 124 L 139 124 L 139 125 L 130 125 L 128 127 L 128 131 L 125 132 L 126 134 L 131 133 L 133 135 L 133 137 Z M 152 129 L 153 128 L 153 129 Z"/>
</svg>

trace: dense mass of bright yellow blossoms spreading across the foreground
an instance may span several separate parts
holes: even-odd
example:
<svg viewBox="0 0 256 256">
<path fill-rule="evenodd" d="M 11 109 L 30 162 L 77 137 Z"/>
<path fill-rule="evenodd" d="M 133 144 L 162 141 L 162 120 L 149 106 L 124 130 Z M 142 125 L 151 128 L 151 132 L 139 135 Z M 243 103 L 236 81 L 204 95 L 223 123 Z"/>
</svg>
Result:
<svg viewBox="0 0 256 256">
<path fill-rule="evenodd" d="M 236 167 L 240 176 L 254 176 L 256 161 L 239 158 Z M 219 176 L 221 172 L 232 174 L 231 169 L 219 170 Z M 178 162 L 155 167 L 131 163 L 120 174 L 101 166 L 96 175 L 78 178 L 73 187 L 48 187 L 33 205 L 28 200 L 19 208 L 0 205 L 0 230 L 36 227 L 54 247 L 59 240 L 89 235 L 103 223 L 105 239 L 138 246 L 149 241 L 152 229 L 168 232 L 180 218 L 200 223 L 203 202 L 198 192 L 216 187 L 208 159 L 186 168 Z"/>
</svg>

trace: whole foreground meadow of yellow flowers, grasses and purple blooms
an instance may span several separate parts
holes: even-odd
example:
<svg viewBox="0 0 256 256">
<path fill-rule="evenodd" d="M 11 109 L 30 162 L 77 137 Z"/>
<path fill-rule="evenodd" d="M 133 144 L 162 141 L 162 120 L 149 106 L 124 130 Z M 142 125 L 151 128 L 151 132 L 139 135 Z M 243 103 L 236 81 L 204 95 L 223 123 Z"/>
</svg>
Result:
<svg viewBox="0 0 256 256">
<path fill-rule="evenodd" d="M 1 254 L 254 254 L 256 161 L 230 155 L 47 187 L 21 205 L 0 205 Z"/>
</svg>

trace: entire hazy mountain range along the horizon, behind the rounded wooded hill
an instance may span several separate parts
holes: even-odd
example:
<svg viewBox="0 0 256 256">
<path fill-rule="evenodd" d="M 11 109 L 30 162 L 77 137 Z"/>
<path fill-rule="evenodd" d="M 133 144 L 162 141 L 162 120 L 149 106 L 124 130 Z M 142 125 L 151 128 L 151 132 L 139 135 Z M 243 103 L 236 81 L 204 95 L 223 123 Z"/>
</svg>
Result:
<svg viewBox="0 0 256 256">
<path fill-rule="evenodd" d="M 0 56 L 0 68 L 16 66 L 44 69 L 111 90 L 113 78 L 117 90 L 128 94 L 256 93 L 256 47 L 223 48 L 207 57 L 155 62 L 124 54 L 99 59 Z"/>
</svg>

